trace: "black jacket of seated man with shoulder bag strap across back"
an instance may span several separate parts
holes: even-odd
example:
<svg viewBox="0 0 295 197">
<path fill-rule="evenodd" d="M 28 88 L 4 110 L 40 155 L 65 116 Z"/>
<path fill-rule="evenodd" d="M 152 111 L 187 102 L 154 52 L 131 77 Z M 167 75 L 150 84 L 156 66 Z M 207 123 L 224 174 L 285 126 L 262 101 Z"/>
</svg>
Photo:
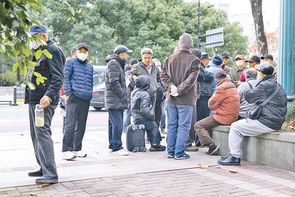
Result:
<svg viewBox="0 0 295 197">
<path fill-rule="evenodd" d="M 261 110 L 257 120 L 270 129 L 279 130 L 285 121 L 287 113 L 287 95 L 284 88 L 274 76 L 266 75 L 256 87 L 246 91 L 245 99 L 248 103 L 261 104 L 279 85 L 278 93 L 268 101 Z"/>
</svg>

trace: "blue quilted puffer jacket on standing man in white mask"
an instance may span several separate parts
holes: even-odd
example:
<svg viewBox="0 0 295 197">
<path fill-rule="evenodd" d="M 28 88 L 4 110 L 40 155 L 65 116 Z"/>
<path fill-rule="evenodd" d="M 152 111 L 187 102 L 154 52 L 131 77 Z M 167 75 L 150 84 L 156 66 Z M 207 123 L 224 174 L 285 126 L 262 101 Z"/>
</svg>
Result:
<svg viewBox="0 0 295 197">
<path fill-rule="evenodd" d="M 66 96 L 75 95 L 83 100 L 92 99 L 93 66 L 88 60 L 82 62 L 78 57 L 67 60 L 62 86 Z"/>
</svg>

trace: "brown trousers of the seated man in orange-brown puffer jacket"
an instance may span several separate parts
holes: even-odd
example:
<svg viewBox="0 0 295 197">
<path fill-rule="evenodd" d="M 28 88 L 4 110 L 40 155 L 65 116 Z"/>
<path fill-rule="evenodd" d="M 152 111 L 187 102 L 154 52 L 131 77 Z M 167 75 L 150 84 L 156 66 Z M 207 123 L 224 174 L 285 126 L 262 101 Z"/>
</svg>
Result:
<svg viewBox="0 0 295 197">
<path fill-rule="evenodd" d="M 222 125 L 221 123 L 217 122 L 212 115 L 206 117 L 195 124 L 195 130 L 198 134 L 200 139 L 201 145 L 205 146 L 213 142 L 212 139 L 212 128 Z"/>
</svg>

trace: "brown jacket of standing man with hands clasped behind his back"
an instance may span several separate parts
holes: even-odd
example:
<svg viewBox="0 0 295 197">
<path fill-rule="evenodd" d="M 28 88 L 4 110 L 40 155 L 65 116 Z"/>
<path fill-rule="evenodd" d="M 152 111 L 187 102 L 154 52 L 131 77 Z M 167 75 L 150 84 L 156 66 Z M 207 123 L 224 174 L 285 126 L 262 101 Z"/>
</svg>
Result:
<svg viewBox="0 0 295 197">
<path fill-rule="evenodd" d="M 191 54 L 188 49 L 180 49 L 177 53 L 166 58 L 161 71 L 161 80 L 167 89 L 166 102 L 196 105 L 200 63 L 200 59 Z M 179 96 L 170 95 L 172 85 L 177 87 Z"/>
</svg>

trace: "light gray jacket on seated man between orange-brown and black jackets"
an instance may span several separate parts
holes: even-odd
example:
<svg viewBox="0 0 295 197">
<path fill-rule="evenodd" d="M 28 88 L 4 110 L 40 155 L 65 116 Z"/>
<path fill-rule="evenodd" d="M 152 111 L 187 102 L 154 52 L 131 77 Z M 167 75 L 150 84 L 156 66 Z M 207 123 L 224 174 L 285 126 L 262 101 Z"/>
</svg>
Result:
<svg viewBox="0 0 295 197">
<path fill-rule="evenodd" d="M 242 83 L 241 85 L 238 86 L 238 93 L 240 95 L 240 111 L 239 111 L 239 116 L 241 117 L 246 117 L 246 112 L 251 109 L 254 106 L 254 103 L 248 103 L 245 100 L 245 92 L 250 88 L 250 83 L 252 85 L 252 88 L 254 88 L 257 84 L 257 80 L 255 79 L 248 79 L 246 82 Z"/>
</svg>

